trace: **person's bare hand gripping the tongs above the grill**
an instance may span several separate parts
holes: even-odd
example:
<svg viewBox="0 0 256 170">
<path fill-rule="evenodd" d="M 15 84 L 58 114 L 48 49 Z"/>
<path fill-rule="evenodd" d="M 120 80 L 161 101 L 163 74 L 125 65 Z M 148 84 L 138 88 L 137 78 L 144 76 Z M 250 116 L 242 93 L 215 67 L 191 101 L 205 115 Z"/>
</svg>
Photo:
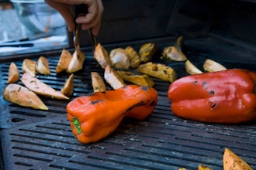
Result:
<svg viewBox="0 0 256 170">
<path fill-rule="evenodd" d="M 98 36 L 102 22 L 102 13 L 104 11 L 102 0 L 45 0 L 45 2 L 60 12 L 67 22 L 69 31 L 74 31 L 77 23 L 81 24 L 81 28 L 84 30 L 92 28 L 92 34 L 94 36 Z M 71 5 L 80 4 L 86 4 L 88 6 L 88 13 L 74 19 L 74 14 L 71 11 Z"/>
</svg>

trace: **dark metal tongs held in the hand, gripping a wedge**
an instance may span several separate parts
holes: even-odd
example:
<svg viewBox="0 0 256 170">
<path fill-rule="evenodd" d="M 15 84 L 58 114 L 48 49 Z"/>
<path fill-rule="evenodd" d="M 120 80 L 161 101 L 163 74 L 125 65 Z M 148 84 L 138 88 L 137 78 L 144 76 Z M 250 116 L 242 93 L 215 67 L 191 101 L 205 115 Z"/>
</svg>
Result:
<svg viewBox="0 0 256 170">
<path fill-rule="evenodd" d="M 75 19 L 78 16 L 86 15 L 88 13 L 88 6 L 85 4 L 74 5 L 74 16 Z M 74 30 L 74 48 L 78 53 L 80 51 L 80 34 L 81 34 L 81 24 L 76 24 Z M 95 47 L 97 46 L 96 37 L 92 34 L 92 29 L 88 29 L 88 36 L 92 44 L 92 52 L 94 53 Z"/>
</svg>

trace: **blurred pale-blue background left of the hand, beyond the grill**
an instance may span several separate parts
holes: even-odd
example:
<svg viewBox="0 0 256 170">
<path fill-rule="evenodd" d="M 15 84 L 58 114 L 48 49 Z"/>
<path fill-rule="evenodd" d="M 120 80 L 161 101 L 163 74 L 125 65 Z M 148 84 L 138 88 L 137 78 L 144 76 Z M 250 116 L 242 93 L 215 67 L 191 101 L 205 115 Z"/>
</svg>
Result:
<svg viewBox="0 0 256 170">
<path fill-rule="evenodd" d="M 43 0 L 0 0 L 0 56 L 67 46 L 61 15 Z"/>
</svg>

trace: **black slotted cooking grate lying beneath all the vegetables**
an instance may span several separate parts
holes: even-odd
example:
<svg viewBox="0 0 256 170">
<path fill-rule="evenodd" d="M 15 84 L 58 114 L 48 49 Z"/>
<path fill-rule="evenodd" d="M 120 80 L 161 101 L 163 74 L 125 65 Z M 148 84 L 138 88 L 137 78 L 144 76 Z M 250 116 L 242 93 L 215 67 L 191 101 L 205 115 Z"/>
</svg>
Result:
<svg viewBox="0 0 256 170">
<path fill-rule="evenodd" d="M 157 42 L 160 52 L 162 47 L 174 43 L 173 39 L 164 39 L 160 42 Z M 138 49 L 143 42 L 128 43 Z M 199 46 L 200 44 L 203 45 Z M 199 68 L 202 68 L 206 58 L 212 58 L 223 63 L 227 68 L 238 67 L 256 71 L 251 52 L 244 51 L 243 55 L 230 59 L 229 57 L 236 53 L 234 51 L 236 48 L 223 46 L 221 43 L 214 44 L 213 46 L 213 41 L 209 39 L 204 42 L 202 39 L 187 42 L 185 54 Z M 106 48 L 110 50 L 122 46 L 126 45 L 120 43 Z M 217 56 L 216 52 L 220 55 Z M 27 58 L 36 60 L 39 58 L 37 55 L 31 54 Z M 45 53 L 45 55 L 50 62 L 51 74 L 36 76 L 56 90 L 61 90 L 68 75 L 54 73 L 59 55 L 56 53 Z M 74 97 L 92 92 L 92 71 L 103 75 L 103 70 L 97 65 L 88 49 L 85 49 L 85 55 L 87 58 L 84 70 L 74 74 Z M 157 53 L 156 56 L 161 54 Z M 14 61 L 20 72 L 22 59 Z M 247 59 L 247 62 L 244 59 Z M 159 59 L 155 57 L 155 61 Z M 183 167 L 195 169 L 198 165 L 208 165 L 213 169 L 221 169 L 223 149 L 226 147 L 256 168 L 255 124 L 205 124 L 175 117 L 167 98 L 170 83 L 156 78 L 153 79 L 159 101 L 150 117 L 144 121 L 124 119 L 109 138 L 92 145 L 82 145 L 74 138 L 66 118 L 65 106 L 68 101 L 42 98 L 50 109 L 43 111 L 19 107 L 3 99 L 2 93 L 6 87 L 9 63 L 10 61 L 5 61 L 0 64 L 2 168 L 178 169 Z M 165 63 L 175 68 L 178 77 L 186 75 L 184 63 L 166 61 Z M 20 81 L 19 83 L 21 84 Z"/>
</svg>

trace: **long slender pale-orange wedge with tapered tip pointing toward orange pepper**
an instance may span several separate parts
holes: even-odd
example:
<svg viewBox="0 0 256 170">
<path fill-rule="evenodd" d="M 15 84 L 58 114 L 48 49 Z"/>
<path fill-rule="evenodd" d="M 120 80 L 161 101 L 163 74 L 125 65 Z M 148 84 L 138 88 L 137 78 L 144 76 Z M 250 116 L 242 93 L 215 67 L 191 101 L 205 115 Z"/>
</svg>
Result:
<svg viewBox="0 0 256 170">
<path fill-rule="evenodd" d="M 22 83 L 36 94 L 43 95 L 45 97 L 52 97 L 56 99 L 69 99 L 64 96 L 61 92 L 54 90 L 52 87 L 48 86 L 46 83 L 41 82 L 35 76 L 29 73 L 24 73 L 22 76 Z"/>
</svg>

